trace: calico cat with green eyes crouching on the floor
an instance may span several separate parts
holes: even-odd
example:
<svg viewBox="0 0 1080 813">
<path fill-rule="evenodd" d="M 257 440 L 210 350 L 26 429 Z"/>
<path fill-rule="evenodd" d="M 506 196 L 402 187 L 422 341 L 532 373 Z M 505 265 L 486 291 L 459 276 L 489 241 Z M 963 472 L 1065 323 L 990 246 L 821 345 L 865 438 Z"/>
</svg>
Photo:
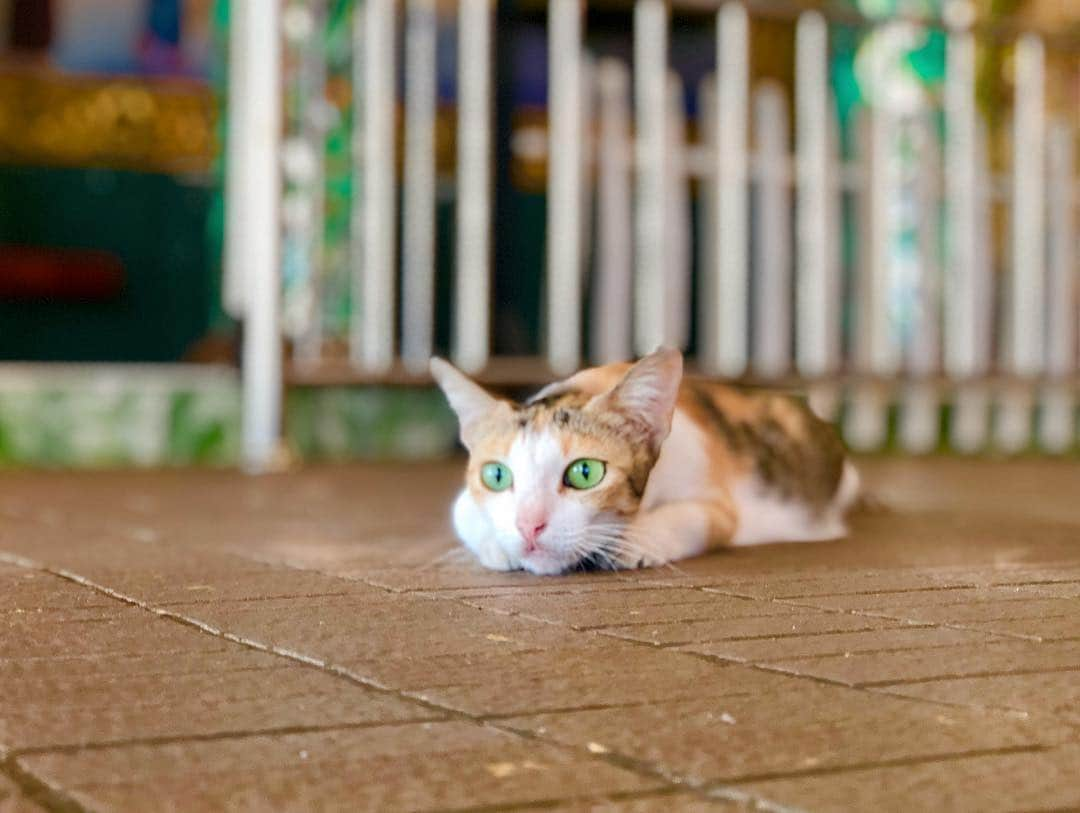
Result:
<svg viewBox="0 0 1080 813">
<path fill-rule="evenodd" d="M 636 568 L 711 547 L 835 539 L 859 475 L 801 403 L 683 377 L 660 349 L 525 404 L 433 358 L 469 450 L 454 527 L 494 570 Z"/>
</svg>

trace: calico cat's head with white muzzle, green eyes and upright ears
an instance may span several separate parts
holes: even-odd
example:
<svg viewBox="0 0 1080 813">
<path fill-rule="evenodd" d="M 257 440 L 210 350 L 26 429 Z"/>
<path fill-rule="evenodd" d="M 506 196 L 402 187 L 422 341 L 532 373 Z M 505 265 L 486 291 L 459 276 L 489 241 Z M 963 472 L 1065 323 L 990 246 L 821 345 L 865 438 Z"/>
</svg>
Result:
<svg viewBox="0 0 1080 813">
<path fill-rule="evenodd" d="M 658 350 L 602 391 L 571 378 L 525 404 L 442 360 L 431 371 L 458 415 L 465 485 L 512 563 L 545 574 L 636 564 L 624 530 L 671 431 L 678 351 Z"/>
</svg>

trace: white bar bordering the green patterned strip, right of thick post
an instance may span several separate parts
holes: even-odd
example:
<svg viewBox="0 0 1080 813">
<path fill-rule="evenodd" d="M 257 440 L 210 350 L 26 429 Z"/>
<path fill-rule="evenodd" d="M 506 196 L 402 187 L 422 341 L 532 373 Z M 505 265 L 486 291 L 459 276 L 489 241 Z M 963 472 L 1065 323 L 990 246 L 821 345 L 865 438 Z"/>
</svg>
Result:
<svg viewBox="0 0 1080 813">
<path fill-rule="evenodd" d="M 370 372 L 384 372 L 394 361 L 394 37 L 393 0 L 367 0 L 357 9 L 360 246 L 349 351 L 353 364 Z"/>
</svg>

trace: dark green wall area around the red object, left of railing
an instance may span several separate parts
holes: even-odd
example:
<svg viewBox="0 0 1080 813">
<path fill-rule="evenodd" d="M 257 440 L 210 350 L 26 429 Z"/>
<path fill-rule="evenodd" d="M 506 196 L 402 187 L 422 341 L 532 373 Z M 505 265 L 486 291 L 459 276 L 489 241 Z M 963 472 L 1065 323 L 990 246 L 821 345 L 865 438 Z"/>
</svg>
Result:
<svg viewBox="0 0 1080 813">
<path fill-rule="evenodd" d="M 210 205 L 166 175 L 0 166 L 0 243 L 105 249 L 126 274 L 114 301 L 0 301 L 0 358 L 178 360 L 216 300 Z"/>
</svg>

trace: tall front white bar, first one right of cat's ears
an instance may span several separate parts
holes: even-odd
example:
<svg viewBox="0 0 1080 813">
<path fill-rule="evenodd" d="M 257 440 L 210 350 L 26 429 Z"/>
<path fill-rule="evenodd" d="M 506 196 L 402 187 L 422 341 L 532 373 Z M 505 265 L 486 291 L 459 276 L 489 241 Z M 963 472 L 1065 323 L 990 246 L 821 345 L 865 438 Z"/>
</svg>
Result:
<svg viewBox="0 0 1080 813">
<path fill-rule="evenodd" d="M 750 22 L 746 9 L 727 3 L 716 16 L 717 49 L 717 311 L 715 369 L 746 370 L 750 331 L 748 161 Z"/>
</svg>

